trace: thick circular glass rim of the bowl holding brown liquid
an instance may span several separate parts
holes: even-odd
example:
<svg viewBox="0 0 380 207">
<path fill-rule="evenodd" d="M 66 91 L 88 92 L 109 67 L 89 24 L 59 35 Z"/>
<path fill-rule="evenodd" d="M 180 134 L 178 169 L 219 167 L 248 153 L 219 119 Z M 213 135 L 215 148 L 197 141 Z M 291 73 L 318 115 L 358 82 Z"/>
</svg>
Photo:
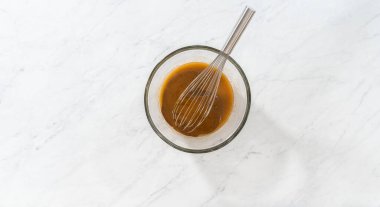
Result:
<svg viewBox="0 0 380 207">
<path fill-rule="evenodd" d="M 144 107 L 145 107 L 145 114 L 146 114 L 146 117 L 148 119 L 148 122 L 150 124 L 150 126 L 152 127 L 153 131 L 164 141 L 166 142 L 168 145 L 172 146 L 173 148 L 177 149 L 177 150 L 180 150 L 180 151 L 183 151 L 183 152 L 188 152 L 188 153 L 207 153 L 207 152 L 212 152 L 212 151 L 215 151 L 215 150 L 218 150 L 224 146 L 226 146 L 228 143 L 230 143 L 239 133 L 240 131 L 243 129 L 246 121 L 247 121 L 247 118 L 248 118 L 248 114 L 249 114 L 249 111 L 250 111 L 250 108 L 251 108 L 251 90 L 250 90 L 250 86 L 249 86 L 249 83 L 248 83 L 248 79 L 243 71 L 243 69 L 240 67 L 240 65 L 231 57 L 231 56 L 227 56 L 227 59 L 236 67 L 236 69 L 238 70 L 238 72 L 240 73 L 241 77 L 243 78 L 243 82 L 244 82 L 244 85 L 245 85 L 245 89 L 246 89 L 246 93 L 247 93 L 247 105 L 246 105 L 246 108 L 245 108 L 245 112 L 244 112 L 244 116 L 243 116 L 243 119 L 241 120 L 239 126 L 236 128 L 236 130 L 234 131 L 234 133 L 232 133 L 232 135 L 230 137 L 228 137 L 225 141 L 221 142 L 220 144 L 218 145 L 215 145 L 215 146 L 212 146 L 212 147 L 209 147 L 209 148 L 205 148 L 205 149 L 190 149 L 190 148 L 185 148 L 185 147 L 182 147 L 182 146 L 179 146 L 177 144 L 174 144 L 173 142 L 171 142 L 168 138 L 165 137 L 165 135 L 163 135 L 160 130 L 158 130 L 158 128 L 156 127 L 156 125 L 154 124 L 151 116 L 150 116 L 150 112 L 149 112 L 149 106 L 148 106 L 148 94 L 149 94 L 149 88 L 150 88 L 150 84 L 152 82 L 152 79 L 154 77 L 154 75 L 156 74 L 156 72 L 158 71 L 158 69 L 170 58 L 172 58 L 173 56 L 181 53 L 181 52 L 185 52 L 187 50 L 208 50 L 208 51 L 211 51 L 211 52 L 214 52 L 214 53 L 223 53 L 222 51 L 216 49 L 216 48 L 213 48 L 213 47 L 209 47 L 209 46 L 205 46 L 205 45 L 190 45 L 190 46 L 185 46 L 185 47 L 181 47 L 177 50 L 174 50 L 173 52 L 169 53 L 168 55 L 166 55 L 161 61 L 159 61 L 157 63 L 157 65 L 154 67 L 153 71 L 151 72 L 151 74 L 149 75 L 149 78 L 148 78 L 148 81 L 146 83 L 146 86 L 145 86 L 145 94 L 144 94 Z"/>
</svg>

